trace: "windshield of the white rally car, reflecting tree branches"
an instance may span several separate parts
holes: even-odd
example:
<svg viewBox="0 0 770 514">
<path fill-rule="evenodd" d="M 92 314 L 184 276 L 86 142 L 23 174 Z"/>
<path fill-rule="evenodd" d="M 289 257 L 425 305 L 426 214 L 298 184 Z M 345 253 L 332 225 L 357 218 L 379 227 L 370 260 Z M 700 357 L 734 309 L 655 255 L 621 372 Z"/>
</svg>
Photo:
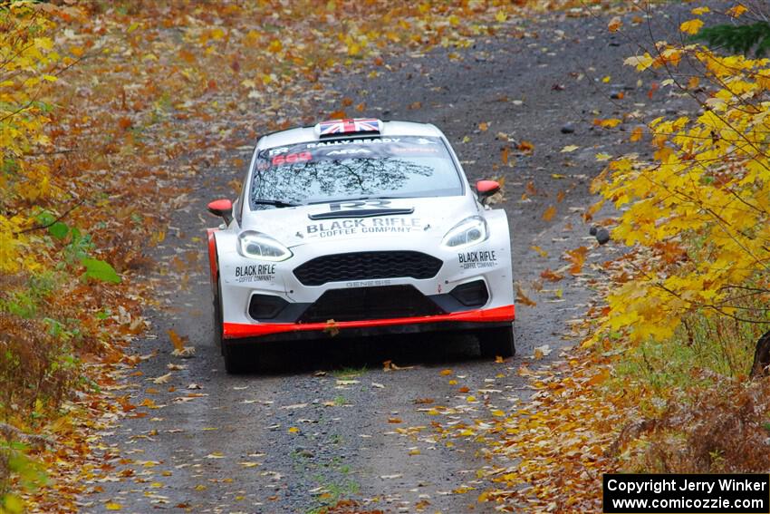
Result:
<svg viewBox="0 0 770 514">
<path fill-rule="evenodd" d="M 463 188 L 440 138 L 400 136 L 261 150 L 249 193 L 255 210 L 346 199 L 458 196 Z"/>
</svg>

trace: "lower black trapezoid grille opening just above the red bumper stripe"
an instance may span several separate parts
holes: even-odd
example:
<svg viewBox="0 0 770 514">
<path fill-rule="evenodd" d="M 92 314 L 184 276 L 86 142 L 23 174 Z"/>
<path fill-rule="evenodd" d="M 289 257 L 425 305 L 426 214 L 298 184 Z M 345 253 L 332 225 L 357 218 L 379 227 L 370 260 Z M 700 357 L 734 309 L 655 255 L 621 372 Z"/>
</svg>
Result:
<svg viewBox="0 0 770 514">
<path fill-rule="evenodd" d="M 299 322 L 361 321 L 443 313 L 443 309 L 412 286 L 351 287 L 323 293 L 304 311 Z"/>
</svg>

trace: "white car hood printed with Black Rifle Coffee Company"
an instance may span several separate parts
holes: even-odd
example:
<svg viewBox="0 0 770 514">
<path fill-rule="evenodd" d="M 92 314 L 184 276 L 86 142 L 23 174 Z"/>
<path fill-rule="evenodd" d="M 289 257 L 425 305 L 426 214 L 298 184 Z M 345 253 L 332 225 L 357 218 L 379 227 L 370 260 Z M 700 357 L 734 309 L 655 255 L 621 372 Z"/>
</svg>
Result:
<svg viewBox="0 0 770 514">
<path fill-rule="evenodd" d="M 246 213 L 245 230 L 257 230 L 287 247 L 359 238 L 440 240 L 459 221 L 478 214 L 470 196 L 347 201 Z"/>
</svg>

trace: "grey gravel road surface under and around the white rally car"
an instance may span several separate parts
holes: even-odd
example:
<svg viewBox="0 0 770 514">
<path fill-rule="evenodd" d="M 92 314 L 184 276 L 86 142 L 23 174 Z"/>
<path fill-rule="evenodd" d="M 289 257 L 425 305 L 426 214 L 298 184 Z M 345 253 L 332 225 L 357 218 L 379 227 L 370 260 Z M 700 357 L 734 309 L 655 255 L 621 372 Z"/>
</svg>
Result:
<svg viewBox="0 0 770 514">
<path fill-rule="evenodd" d="M 546 283 L 540 293 L 531 284 L 546 267 L 564 266 L 564 250 L 589 246 L 594 258 L 604 251 L 593 249 L 578 210 L 592 203 L 588 184 L 602 169 L 595 155 L 627 150 L 622 141 L 633 125 L 602 131 L 592 121 L 677 109 L 670 100 L 663 104 L 662 93 L 648 97 L 650 77 L 637 86 L 640 77 L 621 65 L 635 46 L 609 34 L 606 19 L 513 21 L 509 28 L 467 49 L 386 61 L 391 70 L 380 67 L 376 78 L 329 77 L 327 87 L 340 92 L 335 102 L 304 114 L 320 117 L 347 96 L 353 105 L 365 101 L 366 115 L 433 122 L 448 135 L 471 181 L 505 177 L 505 200 L 496 207 L 508 214 L 515 279 L 537 302 L 517 305 L 515 358 L 482 360 L 467 335 L 325 339 L 273 346 L 263 363 L 272 370 L 228 376 L 213 343 L 204 229 L 217 221 L 205 206 L 230 196 L 227 183 L 244 170 L 200 170 L 186 185 L 190 205 L 173 214 L 154 256 L 160 305 L 149 313 L 152 335 L 136 352 L 159 354 L 138 366 L 142 374 L 129 377 L 122 392 L 137 405 L 148 400 L 137 410 L 147 414 L 126 419 L 106 440 L 127 460 L 115 462 L 113 475 L 125 470 L 126 476 L 96 484 L 104 492 L 84 497 L 84 511 L 101 512 L 108 500 L 130 512 L 306 512 L 336 499 L 392 512 L 494 509 L 476 503 L 480 490 L 472 489 L 485 487 L 476 480 L 476 470 L 486 465 L 481 446 L 448 446 L 431 426 L 436 417 L 429 408 L 458 406 L 456 421 L 488 416 L 486 406 L 466 402 L 460 386 L 510 408 L 530 393 L 516 373 L 520 366 L 547 364 L 573 344 L 564 337 L 566 322 L 582 314 L 591 292 L 573 279 Z M 644 40 L 645 27 L 635 32 Z M 602 82 L 606 75 L 610 81 Z M 611 99 L 618 92 L 624 97 Z M 479 131 L 481 122 L 486 131 Z M 562 133 L 567 123 L 573 133 Z M 534 150 L 517 150 L 523 141 Z M 577 148 L 566 151 L 570 145 Z M 228 157 L 247 160 L 250 151 Z M 563 201 L 557 201 L 560 191 Z M 556 215 L 545 221 L 551 206 Z M 194 358 L 170 354 L 168 329 L 188 336 Z M 534 361 L 534 347 L 545 344 L 553 352 Z M 409 369 L 383 371 L 387 360 Z M 149 381 L 169 373 L 168 364 L 183 369 L 166 383 Z M 445 369 L 451 373 L 442 374 Z"/>
</svg>

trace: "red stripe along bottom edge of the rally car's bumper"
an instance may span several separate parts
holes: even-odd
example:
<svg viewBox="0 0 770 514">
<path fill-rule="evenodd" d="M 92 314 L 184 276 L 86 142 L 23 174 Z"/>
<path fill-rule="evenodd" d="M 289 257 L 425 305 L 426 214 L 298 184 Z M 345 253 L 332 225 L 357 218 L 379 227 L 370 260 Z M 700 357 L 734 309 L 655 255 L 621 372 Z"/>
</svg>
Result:
<svg viewBox="0 0 770 514">
<path fill-rule="evenodd" d="M 419 317 L 399 317 L 393 319 L 372 319 L 366 321 L 341 321 L 334 326 L 340 330 L 345 328 L 363 328 L 367 326 L 415 325 L 419 323 L 437 323 L 442 321 L 468 322 L 501 322 L 515 320 L 515 306 L 505 305 L 494 309 L 478 309 L 446 315 L 428 315 Z M 223 327 L 225 339 L 256 337 L 259 335 L 279 334 L 298 330 L 324 330 L 326 323 L 226 323 Z"/>
</svg>

